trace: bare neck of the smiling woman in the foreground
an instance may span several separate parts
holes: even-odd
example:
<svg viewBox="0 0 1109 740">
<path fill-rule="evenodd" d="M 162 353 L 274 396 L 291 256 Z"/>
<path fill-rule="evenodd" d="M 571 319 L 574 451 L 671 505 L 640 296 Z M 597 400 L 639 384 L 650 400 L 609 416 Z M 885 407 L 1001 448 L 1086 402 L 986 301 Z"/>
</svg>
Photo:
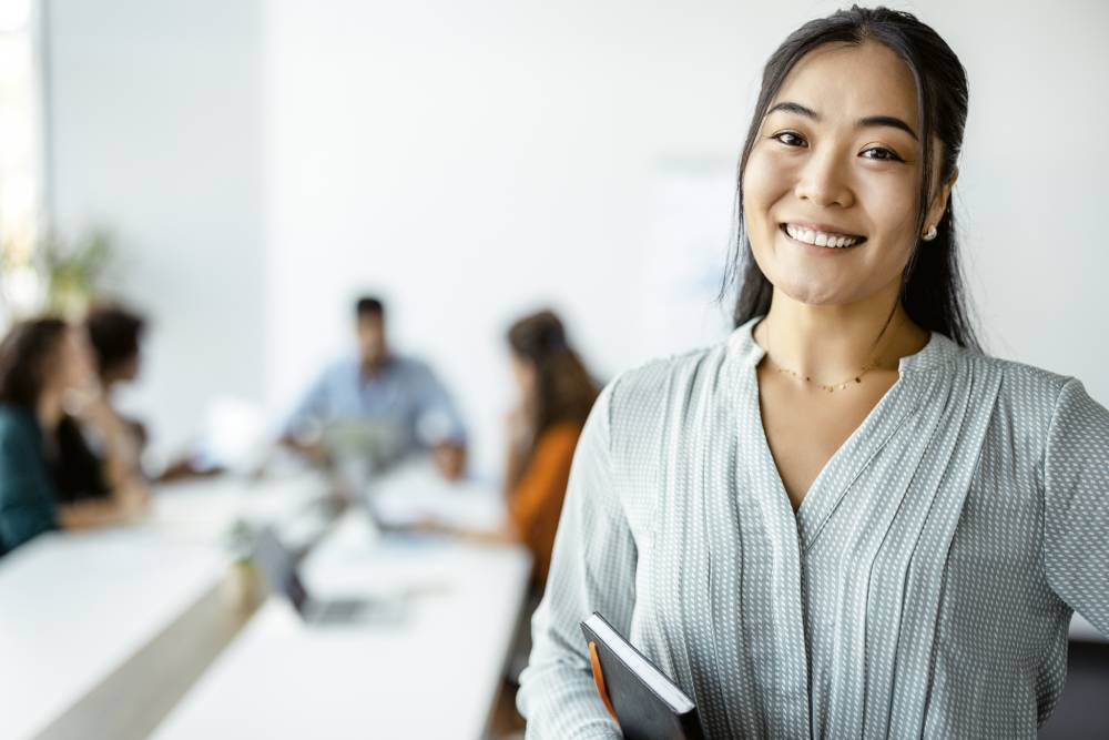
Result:
<svg viewBox="0 0 1109 740">
<path fill-rule="evenodd" d="M 808 305 L 774 291 L 756 341 L 771 361 L 820 383 L 836 383 L 875 362 L 896 368 L 928 332 L 909 320 L 893 291 L 849 305 Z"/>
</svg>

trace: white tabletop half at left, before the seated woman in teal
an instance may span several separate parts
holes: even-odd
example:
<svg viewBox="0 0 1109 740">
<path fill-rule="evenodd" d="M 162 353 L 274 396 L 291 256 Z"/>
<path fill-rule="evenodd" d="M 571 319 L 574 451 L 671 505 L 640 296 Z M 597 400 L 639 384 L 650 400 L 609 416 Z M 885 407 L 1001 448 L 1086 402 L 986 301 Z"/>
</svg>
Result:
<svg viewBox="0 0 1109 740">
<path fill-rule="evenodd" d="M 276 518 L 318 493 L 318 479 L 303 476 L 253 490 L 233 479 L 173 486 L 155 491 L 142 524 L 49 533 L 7 555 L 3 737 L 40 732 L 211 592 L 236 517 Z"/>
</svg>

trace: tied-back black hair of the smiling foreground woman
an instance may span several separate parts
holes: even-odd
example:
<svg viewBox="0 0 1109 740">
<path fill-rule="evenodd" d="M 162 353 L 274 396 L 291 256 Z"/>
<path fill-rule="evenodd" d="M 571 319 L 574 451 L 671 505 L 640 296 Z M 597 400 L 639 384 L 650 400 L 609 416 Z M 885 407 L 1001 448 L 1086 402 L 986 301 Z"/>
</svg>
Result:
<svg viewBox="0 0 1109 740">
<path fill-rule="evenodd" d="M 827 18 L 808 21 L 794 31 L 771 54 L 763 70 L 762 90 L 755 104 L 747 140 L 739 166 L 736 197 L 736 243 L 730 262 L 725 287 L 741 272 L 735 302 L 735 326 L 770 311 L 773 287 L 755 263 L 751 242 L 743 225 L 743 171 L 759 136 L 763 118 L 786 75 L 810 51 L 826 43 L 859 45 L 875 41 L 888 47 L 908 67 L 916 80 L 917 130 L 923 146 L 917 233 L 924 227 L 932 200 L 933 135 L 940 142 L 939 182 L 947 182 L 955 170 L 963 146 L 967 118 L 966 70 L 950 47 L 930 27 L 915 16 L 888 8 L 840 10 Z M 978 341 L 964 295 L 955 235 L 955 214 L 950 203 L 937 224 L 935 240 L 913 250 L 902 275 L 901 301 L 909 318 L 924 328 L 947 335 L 965 347 L 978 348 Z"/>
</svg>

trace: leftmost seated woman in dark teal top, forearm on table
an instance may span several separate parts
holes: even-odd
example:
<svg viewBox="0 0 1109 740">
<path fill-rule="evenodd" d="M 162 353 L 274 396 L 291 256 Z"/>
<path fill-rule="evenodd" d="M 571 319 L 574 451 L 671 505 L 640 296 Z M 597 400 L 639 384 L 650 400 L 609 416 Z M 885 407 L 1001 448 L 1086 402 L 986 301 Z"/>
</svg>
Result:
<svg viewBox="0 0 1109 740">
<path fill-rule="evenodd" d="M 0 342 L 0 555 L 51 529 L 119 524 L 142 508 L 129 488 L 58 500 L 58 427 L 67 396 L 87 393 L 91 374 L 84 333 L 61 320 L 21 322 Z"/>
</svg>

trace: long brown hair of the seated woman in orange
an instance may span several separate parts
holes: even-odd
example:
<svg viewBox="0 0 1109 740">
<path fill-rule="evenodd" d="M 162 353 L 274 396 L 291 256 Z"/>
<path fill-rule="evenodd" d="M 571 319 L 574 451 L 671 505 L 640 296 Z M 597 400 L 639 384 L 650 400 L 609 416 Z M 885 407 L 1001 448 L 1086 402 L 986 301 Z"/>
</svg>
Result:
<svg viewBox="0 0 1109 740">
<path fill-rule="evenodd" d="M 536 436 L 558 422 L 584 424 L 598 387 L 570 348 L 559 317 L 550 311 L 525 316 L 508 330 L 508 344 L 536 368 Z"/>
</svg>

